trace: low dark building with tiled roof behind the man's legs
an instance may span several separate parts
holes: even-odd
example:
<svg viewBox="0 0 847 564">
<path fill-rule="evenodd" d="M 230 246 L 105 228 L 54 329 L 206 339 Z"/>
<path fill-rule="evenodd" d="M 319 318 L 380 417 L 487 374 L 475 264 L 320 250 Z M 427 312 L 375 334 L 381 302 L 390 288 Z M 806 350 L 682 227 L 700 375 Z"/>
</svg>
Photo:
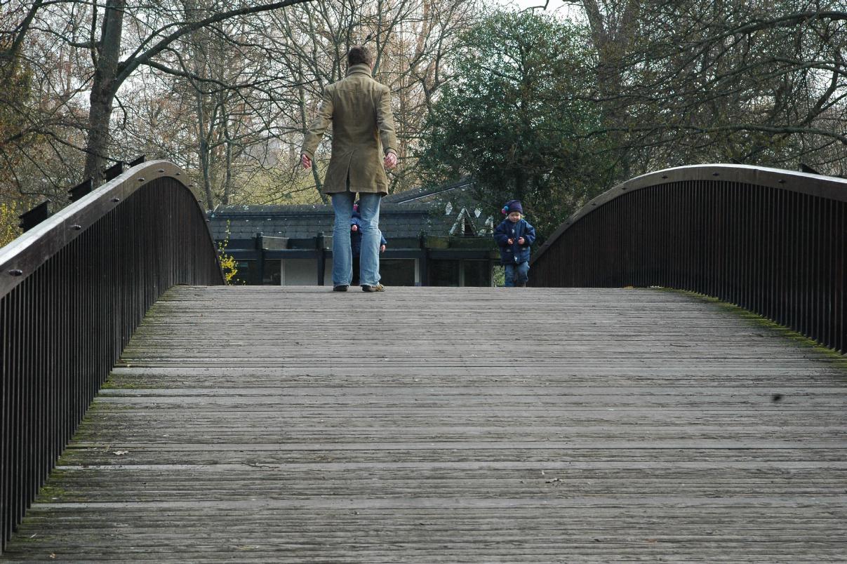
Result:
<svg viewBox="0 0 847 564">
<path fill-rule="evenodd" d="M 385 285 L 491 285 L 492 218 L 445 197 L 467 185 L 383 198 Z M 333 220 L 328 205 L 226 206 L 209 213 L 214 239 L 235 257 L 236 278 L 246 284 L 331 285 Z"/>
</svg>

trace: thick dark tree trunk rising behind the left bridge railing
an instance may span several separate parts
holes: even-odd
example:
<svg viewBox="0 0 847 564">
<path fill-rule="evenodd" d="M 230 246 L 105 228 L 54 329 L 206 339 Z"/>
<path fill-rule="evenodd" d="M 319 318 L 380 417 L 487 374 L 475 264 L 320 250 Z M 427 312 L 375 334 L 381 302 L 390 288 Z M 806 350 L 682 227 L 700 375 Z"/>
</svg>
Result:
<svg viewBox="0 0 847 564">
<path fill-rule="evenodd" d="M 88 143 L 86 145 L 86 178 L 93 185 L 102 182 L 102 169 L 108 158 L 109 120 L 112 118 L 114 96 L 119 84 L 118 58 L 124 27 L 125 0 L 107 0 L 103 17 L 102 36 L 97 47 L 94 80 L 91 86 L 91 110 L 88 114 Z"/>
</svg>

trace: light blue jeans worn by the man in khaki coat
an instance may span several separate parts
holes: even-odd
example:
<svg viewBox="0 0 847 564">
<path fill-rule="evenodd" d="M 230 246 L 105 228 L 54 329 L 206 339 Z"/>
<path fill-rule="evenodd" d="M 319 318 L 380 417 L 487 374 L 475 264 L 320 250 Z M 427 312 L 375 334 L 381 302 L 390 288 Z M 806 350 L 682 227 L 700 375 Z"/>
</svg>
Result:
<svg viewBox="0 0 847 564">
<path fill-rule="evenodd" d="M 339 192 L 332 196 L 335 226 L 332 229 L 332 285 L 350 285 L 353 277 L 353 252 L 350 246 L 350 218 L 356 194 Z M 362 214 L 362 252 L 359 256 L 359 284 L 379 283 L 379 194 L 359 194 L 359 213 Z"/>
</svg>

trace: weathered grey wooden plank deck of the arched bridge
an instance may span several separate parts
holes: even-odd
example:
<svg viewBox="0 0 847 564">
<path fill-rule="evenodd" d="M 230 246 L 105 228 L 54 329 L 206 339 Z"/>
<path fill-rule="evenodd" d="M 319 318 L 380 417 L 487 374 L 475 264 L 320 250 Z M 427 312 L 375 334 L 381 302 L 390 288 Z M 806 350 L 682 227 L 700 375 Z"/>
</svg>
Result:
<svg viewBox="0 0 847 564">
<path fill-rule="evenodd" d="M 844 562 L 845 423 L 670 291 L 179 288 L 3 558 Z"/>
</svg>

